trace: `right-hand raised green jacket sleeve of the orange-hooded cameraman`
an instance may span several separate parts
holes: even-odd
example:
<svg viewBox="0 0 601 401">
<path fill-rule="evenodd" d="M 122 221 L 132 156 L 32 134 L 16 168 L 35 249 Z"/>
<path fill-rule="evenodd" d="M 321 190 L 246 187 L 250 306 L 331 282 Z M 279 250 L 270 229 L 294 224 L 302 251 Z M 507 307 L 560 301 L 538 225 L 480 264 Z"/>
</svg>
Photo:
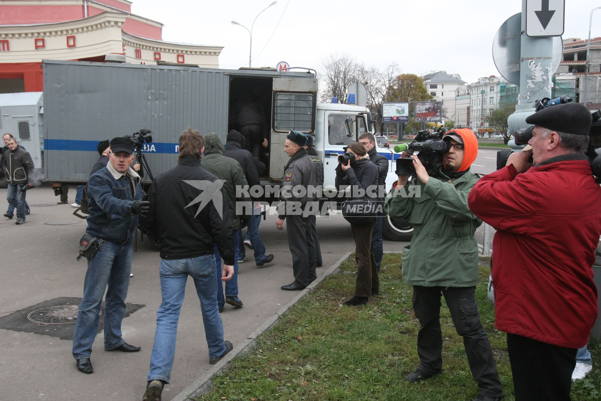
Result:
<svg viewBox="0 0 601 401">
<path fill-rule="evenodd" d="M 466 189 L 457 189 L 451 183 L 441 180 L 428 180 L 424 192 L 429 195 L 441 212 L 456 221 L 479 220 L 468 207 L 468 195 L 476 185 L 477 177 L 470 179 Z M 480 225 L 480 224 L 478 224 Z"/>
</svg>

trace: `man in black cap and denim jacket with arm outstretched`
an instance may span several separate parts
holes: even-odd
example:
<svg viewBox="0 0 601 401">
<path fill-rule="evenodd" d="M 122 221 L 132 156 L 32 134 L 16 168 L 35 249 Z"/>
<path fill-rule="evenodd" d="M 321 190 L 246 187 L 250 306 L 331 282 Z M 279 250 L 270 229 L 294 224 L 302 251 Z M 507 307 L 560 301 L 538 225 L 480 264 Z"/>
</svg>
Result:
<svg viewBox="0 0 601 401">
<path fill-rule="evenodd" d="M 86 233 L 97 239 L 96 254 L 88 259 L 84 296 L 73 331 L 73 358 L 80 372 L 93 373 L 90 362 L 96 337 L 100 304 L 105 293 L 105 350 L 136 352 L 140 347 L 121 338 L 121 320 L 132 269 L 132 238 L 138 228 L 138 215 L 150 210 L 143 201 L 140 176 L 130 168 L 135 156 L 134 142 L 118 136 L 111 141 L 109 163 L 88 180 L 90 215 Z"/>
</svg>

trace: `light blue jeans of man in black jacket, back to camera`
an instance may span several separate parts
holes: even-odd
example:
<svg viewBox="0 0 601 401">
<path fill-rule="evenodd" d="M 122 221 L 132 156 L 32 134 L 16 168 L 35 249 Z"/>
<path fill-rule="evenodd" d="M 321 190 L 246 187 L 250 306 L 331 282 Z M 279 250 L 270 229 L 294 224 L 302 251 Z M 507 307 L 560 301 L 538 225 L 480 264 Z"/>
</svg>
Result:
<svg viewBox="0 0 601 401">
<path fill-rule="evenodd" d="M 192 259 L 160 260 L 160 292 L 163 302 L 156 313 L 156 332 L 150 357 L 148 381 L 171 379 L 177 322 L 184 301 L 188 276 L 194 280 L 194 286 L 203 311 L 204 335 L 209 345 L 209 357 L 219 358 L 225 352 L 224 328 L 217 310 L 215 287 L 215 259 L 213 255 Z M 217 269 L 221 271 L 221 269 Z"/>
</svg>

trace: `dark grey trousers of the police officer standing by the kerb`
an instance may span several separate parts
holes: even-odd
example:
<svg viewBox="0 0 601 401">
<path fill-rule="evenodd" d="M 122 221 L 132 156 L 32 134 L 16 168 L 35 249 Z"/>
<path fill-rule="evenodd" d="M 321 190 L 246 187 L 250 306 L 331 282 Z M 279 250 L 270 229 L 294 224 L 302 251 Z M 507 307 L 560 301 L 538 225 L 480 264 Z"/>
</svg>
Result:
<svg viewBox="0 0 601 401">
<path fill-rule="evenodd" d="M 302 215 L 286 216 L 286 232 L 288 234 L 288 247 L 292 254 L 292 269 L 294 281 L 307 287 L 317 278 L 315 268 L 317 257 L 315 242 L 311 233 L 311 221 L 315 224 L 315 216 L 303 217 Z"/>
</svg>

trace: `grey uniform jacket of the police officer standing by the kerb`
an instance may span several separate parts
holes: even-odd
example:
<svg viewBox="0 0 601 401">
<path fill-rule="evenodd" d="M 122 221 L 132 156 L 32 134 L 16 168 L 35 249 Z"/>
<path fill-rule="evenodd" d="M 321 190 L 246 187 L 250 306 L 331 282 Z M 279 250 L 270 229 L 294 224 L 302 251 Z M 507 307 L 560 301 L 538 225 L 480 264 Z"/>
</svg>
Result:
<svg viewBox="0 0 601 401">
<path fill-rule="evenodd" d="M 304 196 L 296 196 L 293 188 L 295 186 L 304 186 L 305 188 L 317 188 L 319 180 L 317 179 L 317 167 L 308 155 L 307 149 L 300 148 L 290 161 L 284 167 L 284 176 L 282 177 L 282 188 L 279 192 L 278 218 L 285 219 L 286 202 L 299 202 L 305 206 L 307 202 L 317 200 L 316 191 L 305 191 Z"/>
</svg>

